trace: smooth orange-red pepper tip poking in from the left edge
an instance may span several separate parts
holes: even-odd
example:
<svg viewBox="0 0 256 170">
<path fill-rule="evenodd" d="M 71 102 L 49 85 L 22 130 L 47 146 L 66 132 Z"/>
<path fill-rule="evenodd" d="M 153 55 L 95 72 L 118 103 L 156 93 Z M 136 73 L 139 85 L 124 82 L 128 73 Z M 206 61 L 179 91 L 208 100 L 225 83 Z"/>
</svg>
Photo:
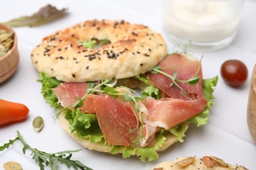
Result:
<svg viewBox="0 0 256 170">
<path fill-rule="evenodd" d="M 25 105 L 0 99 L 0 125 L 25 120 L 28 112 L 30 110 Z"/>
</svg>

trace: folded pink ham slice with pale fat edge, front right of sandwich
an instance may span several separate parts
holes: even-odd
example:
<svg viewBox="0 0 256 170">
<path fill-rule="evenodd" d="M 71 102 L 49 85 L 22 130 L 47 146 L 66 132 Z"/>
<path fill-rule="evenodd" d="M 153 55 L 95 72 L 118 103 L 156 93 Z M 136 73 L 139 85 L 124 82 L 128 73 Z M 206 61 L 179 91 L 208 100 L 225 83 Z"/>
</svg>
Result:
<svg viewBox="0 0 256 170">
<path fill-rule="evenodd" d="M 206 105 L 207 100 L 204 97 L 194 100 L 151 98 L 145 105 L 148 113 L 143 113 L 144 123 L 152 127 L 169 129 L 199 114 Z"/>
</svg>

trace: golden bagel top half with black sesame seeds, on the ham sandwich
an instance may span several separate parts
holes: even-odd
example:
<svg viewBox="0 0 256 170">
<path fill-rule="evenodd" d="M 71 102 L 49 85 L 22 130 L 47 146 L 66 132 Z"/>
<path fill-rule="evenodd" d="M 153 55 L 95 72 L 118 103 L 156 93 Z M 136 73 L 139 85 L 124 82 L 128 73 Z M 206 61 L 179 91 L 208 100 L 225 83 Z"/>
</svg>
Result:
<svg viewBox="0 0 256 170">
<path fill-rule="evenodd" d="M 89 40 L 110 43 L 86 48 Z M 167 55 L 165 41 L 144 25 L 91 20 L 57 31 L 33 49 L 32 62 L 65 82 L 128 78 L 153 69 Z"/>
</svg>

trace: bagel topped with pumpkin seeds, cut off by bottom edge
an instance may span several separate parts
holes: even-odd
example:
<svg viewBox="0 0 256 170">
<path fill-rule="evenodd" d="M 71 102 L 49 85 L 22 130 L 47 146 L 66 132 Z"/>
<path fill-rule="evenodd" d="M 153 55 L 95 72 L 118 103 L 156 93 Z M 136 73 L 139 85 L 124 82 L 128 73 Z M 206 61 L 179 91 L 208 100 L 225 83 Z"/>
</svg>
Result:
<svg viewBox="0 0 256 170">
<path fill-rule="evenodd" d="M 177 158 L 174 161 L 164 161 L 152 168 L 152 170 L 191 170 L 191 169 L 204 169 L 204 170 L 230 170 L 230 169 L 246 169 L 240 165 L 231 165 L 225 163 L 223 160 L 213 157 L 204 156 L 203 158 L 184 157 Z"/>
</svg>

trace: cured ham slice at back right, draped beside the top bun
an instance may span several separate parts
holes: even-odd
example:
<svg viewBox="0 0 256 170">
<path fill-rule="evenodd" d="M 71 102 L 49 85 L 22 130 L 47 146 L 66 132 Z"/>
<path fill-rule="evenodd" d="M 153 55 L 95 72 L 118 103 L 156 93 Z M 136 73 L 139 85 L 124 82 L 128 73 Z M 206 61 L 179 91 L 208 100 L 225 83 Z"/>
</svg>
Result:
<svg viewBox="0 0 256 170">
<path fill-rule="evenodd" d="M 168 75 L 174 75 L 177 73 L 177 79 L 179 80 L 188 80 L 196 75 L 198 68 L 200 67 L 200 61 L 196 58 L 192 58 L 192 56 L 184 56 L 181 54 L 173 54 L 165 57 L 159 64 L 161 71 L 167 73 Z M 200 67 L 200 71 L 197 76 L 200 76 L 199 82 L 192 86 L 188 84 L 188 82 L 177 82 L 179 86 L 186 92 L 183 93 L 182 90 L 173 84 L 173 80 L 171 78 L 162 75 L 161 73 L 149 75 L 150 83 L 160 88 L 164 93 L 166 93 L 169 97 L 175 99 L 198 99 L 202 97 L 202 68 Z"/>
</svg>

